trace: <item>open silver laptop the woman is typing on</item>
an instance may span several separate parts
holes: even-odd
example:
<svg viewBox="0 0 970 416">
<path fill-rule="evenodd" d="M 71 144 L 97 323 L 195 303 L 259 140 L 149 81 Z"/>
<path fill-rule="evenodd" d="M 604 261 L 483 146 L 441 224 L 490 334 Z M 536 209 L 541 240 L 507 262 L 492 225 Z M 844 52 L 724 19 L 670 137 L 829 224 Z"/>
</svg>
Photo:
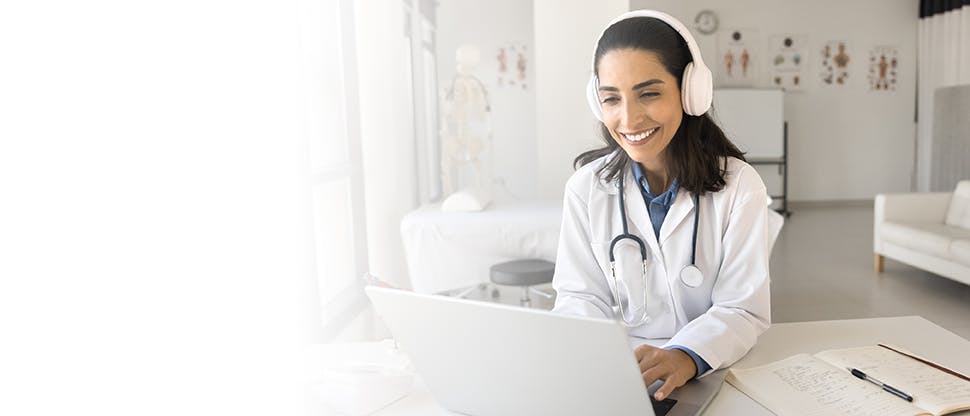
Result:
<svg viewBox="0 0 970 416">
<path fill-rule="evenodd" d="M 724 372 L 653 402 L 626 328 L 595 318 L 367 287 L 400 348 L 444 408 L 469 415 L 694 415 Z M 656 411 L 655 411 L 656 410 Z"/>
</svg>

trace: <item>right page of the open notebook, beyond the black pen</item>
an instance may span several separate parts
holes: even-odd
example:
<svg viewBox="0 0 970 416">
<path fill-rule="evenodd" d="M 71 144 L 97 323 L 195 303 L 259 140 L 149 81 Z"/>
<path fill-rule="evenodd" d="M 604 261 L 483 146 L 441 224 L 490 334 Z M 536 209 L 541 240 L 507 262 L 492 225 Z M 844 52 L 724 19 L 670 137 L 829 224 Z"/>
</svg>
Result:
<svg viewBox="0 0 970 416">
<path fill-rule="evenodd" d="M 913 404 L 933 414 L 970 407 L 970 381 L 877 345 L 822 351 L 815 356 L 838 368 L 858 368 L 913 396 Z"/>
</svg>

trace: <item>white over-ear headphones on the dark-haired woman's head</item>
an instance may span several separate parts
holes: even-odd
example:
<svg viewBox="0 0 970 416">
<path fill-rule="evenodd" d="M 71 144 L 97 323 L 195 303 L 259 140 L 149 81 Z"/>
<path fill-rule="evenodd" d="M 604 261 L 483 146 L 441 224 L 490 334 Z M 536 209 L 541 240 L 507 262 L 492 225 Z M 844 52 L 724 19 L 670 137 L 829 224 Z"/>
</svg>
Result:
<svg viewBox="0 0 970 416">
<path fill-rule="evenodd" d="M 633 17 L 653 17 L 661 20 L 674 28 L 684 38 L 693 58 L 693 62 L 689 62 L 687 67 L 684 68 L 684 77 L 680 85 L 680 96 L 684 112 L 692 116 L 699 116 L 706 113 L 711 108 L 711 100 L 714 97 L 714 81 L 711 76 L 711 70 L 707 65 L 704 65 L 704 60 L 701 59 L 701 51 L 697 47 L 697 42 L 694 41 L 694 37 L 691 36 L 687 27 L 667 13 L 656 10 L 634 10 L 617 16 L 610 24 L 606 25 L 606 29 L 609 29 L 616 22 Z M 596 43 L 593 44 L 593 68 L 589 76 L 589 83 L 586 85 L 586 100 L 589 102 L 589 109 L 593 111 L 593 115 L 600 121 L 603 121 L 603 110 L 600 108 L 599 79 L 596 78 L 596 47 L 599 45 L 600 39 L 603 38 L 603 34 L 606 33 L 606 29 L 600 32 L 599 37 L 596 38 Z"/>
</svg>

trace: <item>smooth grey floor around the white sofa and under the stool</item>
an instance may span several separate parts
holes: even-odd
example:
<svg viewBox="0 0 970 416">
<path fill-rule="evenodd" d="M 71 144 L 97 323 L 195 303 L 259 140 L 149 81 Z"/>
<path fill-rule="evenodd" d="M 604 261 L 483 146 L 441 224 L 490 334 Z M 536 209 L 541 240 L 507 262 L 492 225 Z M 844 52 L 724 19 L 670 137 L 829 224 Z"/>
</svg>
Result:
<svg viewBox="0 0 970 416">
<path fill-rule="evenodd" d="M 871 204 L 792 211 L 771 254 L 773 322 L 919 315 L 970 339 L 970 286 L 891 259 L 873 270 Z M 468 297 L 517 304 L 520 294 L 493 287 Z M 531 297 L 533 307 L 552 308 Z"/>
</svg>

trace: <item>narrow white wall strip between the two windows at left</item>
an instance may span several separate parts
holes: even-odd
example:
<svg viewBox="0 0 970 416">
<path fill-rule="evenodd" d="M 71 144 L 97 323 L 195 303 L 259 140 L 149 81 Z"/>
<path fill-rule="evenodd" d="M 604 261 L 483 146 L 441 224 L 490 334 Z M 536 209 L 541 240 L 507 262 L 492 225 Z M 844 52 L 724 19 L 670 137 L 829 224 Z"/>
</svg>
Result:
<svg viewBox="0 0 970 416">
<path fill-rule="evenodd" d="M 370 271 L 408 287 L 400 222 L 417 206 L 413 104 L 400 0 L 356 0 Z"/>
</svg>

